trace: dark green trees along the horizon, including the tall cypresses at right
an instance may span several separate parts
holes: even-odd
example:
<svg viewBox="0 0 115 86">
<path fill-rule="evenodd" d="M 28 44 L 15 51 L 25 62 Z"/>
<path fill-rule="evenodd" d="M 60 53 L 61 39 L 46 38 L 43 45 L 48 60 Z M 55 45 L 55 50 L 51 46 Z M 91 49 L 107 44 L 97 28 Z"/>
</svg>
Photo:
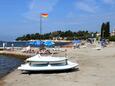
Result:
<svg viewBox="0 0 115 86">
<path fill-rule="evenodd" d="M 46 40 L 46 39 L 64 39 L 64 40 L 74 40 L 74 39 L 88 39 L 91 37 L 97 37 L 97 32 L 88 32 L 88 31 L 78 31 L 72 32 L 68 31 L 54 31 L 45 34 L 34 33 L 26 34 L 21 37 L 17 37 L 16 41 L 27 41 L 27 40 Z M 115 36 L 110 36 L 110 22 L 104 22 L 101 25 L 101 39 L 109 39 L 110 41 L 115 41 Z"/>
</svg>

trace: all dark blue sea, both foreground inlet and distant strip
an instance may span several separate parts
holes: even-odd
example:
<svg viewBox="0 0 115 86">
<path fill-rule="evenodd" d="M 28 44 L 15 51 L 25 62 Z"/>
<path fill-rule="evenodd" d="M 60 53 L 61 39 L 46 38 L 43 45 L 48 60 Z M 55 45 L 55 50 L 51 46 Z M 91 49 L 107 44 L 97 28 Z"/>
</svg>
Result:
<svg viewBox="0 0 115 86">
<path fill-rule="evenodd" d="M 28 42 L 3 42 L 0 41 L 0 47 L 3 46 L 3 43 L 6 43 L 6 47 L 11 47 L 14 44 L 14 47 L 26 47 L 28 46 Z M 69 42 L 56 42 L 56 46 L 63 46 L 68 44 Z M 34 46 L 37 47 L 37 46 Z M 16 69 L 23 61 L 17 59 L 15 57 L 3 56 L 0 55 L 0 78 L 5 76 L 10 71 Z"/>
</svg>

